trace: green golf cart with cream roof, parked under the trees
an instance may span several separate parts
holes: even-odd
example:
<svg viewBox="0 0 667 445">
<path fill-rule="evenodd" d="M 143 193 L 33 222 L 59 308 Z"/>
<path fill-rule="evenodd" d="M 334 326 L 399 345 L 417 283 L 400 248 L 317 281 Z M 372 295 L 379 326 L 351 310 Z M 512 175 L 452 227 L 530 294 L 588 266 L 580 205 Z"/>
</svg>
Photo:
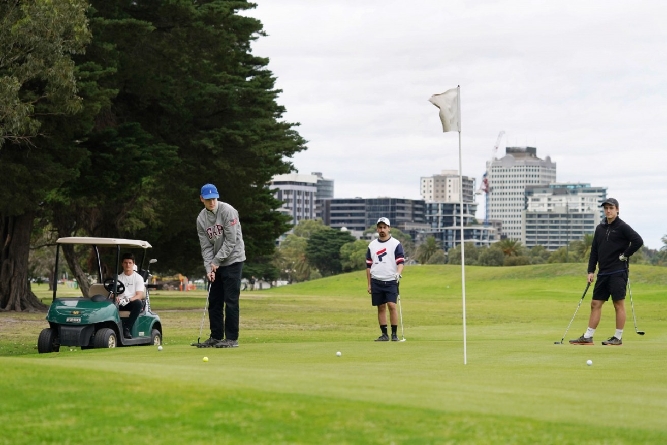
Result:
<svg viewBox="0 0 667 445">
<path fill-rule="evenodd" d="M 151 311 L 149 289 L 157 288 L 150 284 L 149 268 L 157 260 L 150 260 L 142 270 L 147 249 L 151 245 L 139 240 L 121 240 L 117 238 L 66 237 L 59 238 L 55 251 L 55 276 L 58 276 L 60 247 L 63 244 L 87 245 L 93 249 L 97 259 L 97 283 L 91 284 L 88 295 L 79 297 L 58 297 L 58 282 L 53 283 L 53 302 L 46 319 L 49 328 L 40 332 L 37 350 L 40 353 L 57 352 L 61 346 L 78 346 L 81 349 L 116 348 L 117 346 L 140 346 L 162 343 L 162 324 L 159 316 Z M 102 266 L 99 248 L 115 250 L 115 275 L 102 278 Z M 129 311 L 119 308 L 115 296 L 125 292 L 125 286 L 117 280 L 121 274 L 121 249 L 143 249 L 143 256 L 137 262 L 137 271 L 143 278 L 145 300 L 141 314 L 132 327 L 132 338 L 123 337 L 123 321 L 129 317 Z"/>
</svg>

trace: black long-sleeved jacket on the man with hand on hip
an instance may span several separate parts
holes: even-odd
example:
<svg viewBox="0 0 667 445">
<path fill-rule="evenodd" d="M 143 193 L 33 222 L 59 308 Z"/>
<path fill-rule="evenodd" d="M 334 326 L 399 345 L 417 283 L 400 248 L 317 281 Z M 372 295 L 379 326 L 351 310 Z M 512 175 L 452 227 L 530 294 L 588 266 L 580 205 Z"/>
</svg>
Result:
<svg viewBox="0 0 667 445">
<path fill-rule="evenodd" d="M 612 224 L 604 219 L 595 228 L 593 245 L 588 258 L 588 273 L 595 273 L 596 264 L 600 264 L 598 275 L 615 274 L 628 268 L 626 262 L 618 259 L 620 254 L 630 257 L 644 244 L 644 240 L 628 224 L 616 217 Z"/>
</svg>

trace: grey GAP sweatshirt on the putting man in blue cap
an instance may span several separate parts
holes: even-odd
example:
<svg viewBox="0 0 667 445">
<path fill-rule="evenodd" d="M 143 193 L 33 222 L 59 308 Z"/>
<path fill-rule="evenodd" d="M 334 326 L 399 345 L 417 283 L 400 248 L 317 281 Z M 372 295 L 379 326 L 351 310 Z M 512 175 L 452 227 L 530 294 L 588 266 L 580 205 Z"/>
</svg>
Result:
<svg viewBox="0 0 667 445">
<path fill-rule="evenodd" d="M 207 274 L 211 272 L 211 264 L 229 266 L 245 261 L 239 212 L 231 205 L 217 201 L 215 211 L 201 210 L 197 216 L 197 234 Z"/>
</svg>

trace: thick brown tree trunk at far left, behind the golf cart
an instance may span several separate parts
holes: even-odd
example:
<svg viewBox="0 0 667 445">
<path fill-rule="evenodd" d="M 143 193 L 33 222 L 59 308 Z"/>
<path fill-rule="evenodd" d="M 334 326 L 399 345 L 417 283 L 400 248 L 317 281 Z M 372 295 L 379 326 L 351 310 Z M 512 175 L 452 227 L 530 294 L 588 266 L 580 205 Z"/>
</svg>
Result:
<svg viewBox="0 0 667 445">
<path fill-rule="evenodd" d="M 30 235 L 35 213 L 0 216 L 0 311 L 45 312 L 28 281 Z"/>
</svg>

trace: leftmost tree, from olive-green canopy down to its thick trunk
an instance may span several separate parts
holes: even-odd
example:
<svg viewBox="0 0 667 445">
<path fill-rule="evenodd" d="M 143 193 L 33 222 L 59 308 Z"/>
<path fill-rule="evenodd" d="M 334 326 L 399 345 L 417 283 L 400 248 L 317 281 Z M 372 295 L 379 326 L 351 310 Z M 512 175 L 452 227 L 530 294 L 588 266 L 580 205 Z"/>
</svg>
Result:
<svg viewBox="0 0 667 445">
<path fill-rule="evenodd" d="M 58 129 L 81 108 L 73 56 L 90 39 L 82 0 L 0 3 L 0 310 L 44 310 L 29 287 L 35 216 L 82 150 Z"/>
</svg>

